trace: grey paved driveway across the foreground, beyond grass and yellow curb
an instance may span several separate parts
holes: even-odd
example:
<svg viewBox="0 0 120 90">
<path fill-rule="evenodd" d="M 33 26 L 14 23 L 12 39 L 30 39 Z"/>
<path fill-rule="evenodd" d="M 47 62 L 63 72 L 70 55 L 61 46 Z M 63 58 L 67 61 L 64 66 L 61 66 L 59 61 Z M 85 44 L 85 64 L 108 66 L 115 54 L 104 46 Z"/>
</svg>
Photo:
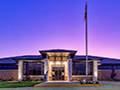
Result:
<svg viewBox="0 0 120 90">
<path fill-rule="evenodd" d="M 120 90 L 120 82 L 102 82 L 104 86 L 94 87 L 23 87 L 0 88 L 0 90 Z"/>
</svg>

